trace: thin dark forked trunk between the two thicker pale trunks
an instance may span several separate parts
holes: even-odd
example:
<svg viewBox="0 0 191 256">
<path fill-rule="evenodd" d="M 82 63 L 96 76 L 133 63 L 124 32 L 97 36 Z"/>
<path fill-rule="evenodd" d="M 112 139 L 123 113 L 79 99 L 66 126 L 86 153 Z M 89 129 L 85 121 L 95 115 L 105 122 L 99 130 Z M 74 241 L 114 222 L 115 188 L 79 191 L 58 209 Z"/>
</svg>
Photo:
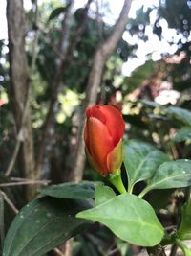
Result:
<svg viewBox="0 0 191 256">
<path fill-rule="evenodd" d="M 46 116 L 45 124 L 44 124 L 44 129 L 42 133 L 42 139 L 39 144 L 39 151 L 38 151 L 38 158 L 36 161 L 36 166 L 35 166 L 35 172 L 39 172 L 39 170 L 42 169 L 42 164 L 43 164 L 43 157 L 44 157 L 44 151 L 46 147 L 46 142 L 48 138 L 50 137 L 49 134 L 49 129 L 53 123 L 53 109 L 55 108 L 55 105 L 57 103 L 57 94 L 60 90 L 61 87 L 61 82 L 62 82 L 62 77 L 65 72 L 65 68 L 67 66 L 67 63 L 73 59 L 73 53 L 74 53 L 74 48 L 77 43 L 77 38 L 82 34 L 87 16 L 88 16 L 88 10 L 90 7 L 90 4 L 93 0 L 89 0 L 86 7 L 85 7 L 85 13 L 84 17 L 81 20 L 80 24 L 78 24 L 74 34 L 72 35 L 71 43 L 68 46 L 68 35 L 69 35 L 69 22 L 71 19 L 71 12 L 72 12 L 72 6 L 74 4 L 74 1 L 71 0 L 71 4 L 69 8 L 67 9 L 67 12 L 65 13 L 64 20 L 62 22 L 62 31 L 60 35 L 60 42 L 58 45 L 58 52 L 61 54 L 58 56 L 58 62 L 59 65 L 56 68 L 55 72 L 55 78 L 54 78 L 54 83 L 53 83 L 53 94 L 52 94 L 52 99 L 51 103 L 49 106 L 49 110 Z"/>
</svg>

